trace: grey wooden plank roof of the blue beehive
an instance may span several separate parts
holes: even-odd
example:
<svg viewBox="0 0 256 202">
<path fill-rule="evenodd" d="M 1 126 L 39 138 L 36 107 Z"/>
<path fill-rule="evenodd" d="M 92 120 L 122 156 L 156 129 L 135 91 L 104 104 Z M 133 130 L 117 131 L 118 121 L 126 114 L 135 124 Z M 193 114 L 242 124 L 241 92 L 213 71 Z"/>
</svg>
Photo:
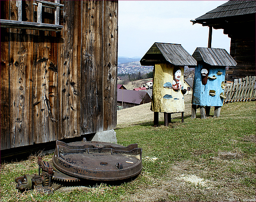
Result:
<svg viewBox="0 0 256 202">
<path fill-rule="evenodd" d="M 196 48 L 192 57 L 196 61 L 204 61 L 212 66 L 236 66 L 236 61 L 220 48 Z"/>
</svg>

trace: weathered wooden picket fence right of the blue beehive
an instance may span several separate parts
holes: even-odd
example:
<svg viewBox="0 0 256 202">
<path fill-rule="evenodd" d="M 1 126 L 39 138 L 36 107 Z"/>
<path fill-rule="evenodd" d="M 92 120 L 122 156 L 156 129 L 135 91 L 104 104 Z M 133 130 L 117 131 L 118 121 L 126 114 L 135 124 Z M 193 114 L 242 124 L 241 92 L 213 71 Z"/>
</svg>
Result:
<svg viewBox="0 0 256 202">
<path fill-rule="evenodd" d="M 255 76 L 235 79 L 233 83 L 226 84 L 224 88 L 224 104 L 228 102 L 255 101 Z"/>
</svg>

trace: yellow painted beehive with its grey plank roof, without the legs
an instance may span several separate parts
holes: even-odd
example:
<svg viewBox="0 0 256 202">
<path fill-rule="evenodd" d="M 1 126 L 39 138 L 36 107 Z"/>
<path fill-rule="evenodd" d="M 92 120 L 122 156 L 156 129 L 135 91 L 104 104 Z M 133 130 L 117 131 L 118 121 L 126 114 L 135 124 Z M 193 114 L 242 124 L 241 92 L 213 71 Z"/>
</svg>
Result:
<svg viewBox="0 0 256 202">
<path fill-rule="evenodd" d="M 184 66 L 196 60 L 180 45 L 154 43 L 140 60 L 141 65 L 154 65 L 153 112 L 184 112 Z"/>
</svg>

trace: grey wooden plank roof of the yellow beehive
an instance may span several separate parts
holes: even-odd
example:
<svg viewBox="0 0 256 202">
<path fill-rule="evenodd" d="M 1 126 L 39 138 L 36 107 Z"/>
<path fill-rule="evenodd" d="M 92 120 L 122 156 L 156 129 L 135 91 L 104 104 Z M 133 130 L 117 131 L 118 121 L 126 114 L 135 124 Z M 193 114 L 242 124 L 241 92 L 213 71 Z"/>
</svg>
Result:
<svg viewBox="0 0 256 202">
<path fill-rule="evenodd" d="M 156 63 L 170 62 L 179 66 L 195 66 L 196 61 L 181 46 L 181 44 L 154 43 L 148 52 L 141 58 L 140 64 L 151 66 Z"/>
</svg>

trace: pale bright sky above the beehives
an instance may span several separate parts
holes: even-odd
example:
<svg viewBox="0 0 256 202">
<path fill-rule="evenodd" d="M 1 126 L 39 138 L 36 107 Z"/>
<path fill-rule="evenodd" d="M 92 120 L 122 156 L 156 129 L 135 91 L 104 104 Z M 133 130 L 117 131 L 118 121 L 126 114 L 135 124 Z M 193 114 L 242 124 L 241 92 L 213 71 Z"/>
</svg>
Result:
<svg viewBox="0 0 256 202">
<path fill-rule="evenodd" d="M 191 55 L 207 47 L 209 27 L 194 20 L 227 0 L 119 0 L 118 57 L 142 58 L 155 42 L 181 44 Z M 213 29 L 212 48 L 229 53 L 230 38 Z"/>
</svg>

